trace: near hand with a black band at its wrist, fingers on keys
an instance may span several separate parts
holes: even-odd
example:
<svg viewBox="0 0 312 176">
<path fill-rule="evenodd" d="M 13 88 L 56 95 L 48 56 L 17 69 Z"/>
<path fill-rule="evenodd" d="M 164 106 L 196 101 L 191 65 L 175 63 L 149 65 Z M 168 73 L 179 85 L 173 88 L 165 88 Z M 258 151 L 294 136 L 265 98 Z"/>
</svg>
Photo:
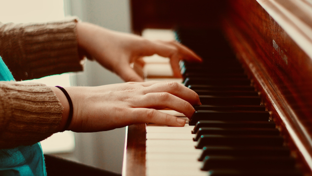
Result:
<svg viewBox="0 0 312 176">
<path fill-rule="evenodd" d="M 74 132 L 107 131 L 135 123 L 184 126 L 185 120 L 155 109 L 169 108 L 190 118 L 195 111 L 192 105 L 200 104 L 199 97 L 193 90 L 176 82 L 128 82 L 65 89 L 74 106 L 68 130 Z M 67 101 L 66 98 L 60 100 L 61 103 L 62 100 Z M 68 104 L 64 104 L 66 103 Z M 68 111 L 68 106 L 64 107 Z M 60 130 L 65 126 L 66 120 L 67 117 L 64 117 Z"/>
</svg>

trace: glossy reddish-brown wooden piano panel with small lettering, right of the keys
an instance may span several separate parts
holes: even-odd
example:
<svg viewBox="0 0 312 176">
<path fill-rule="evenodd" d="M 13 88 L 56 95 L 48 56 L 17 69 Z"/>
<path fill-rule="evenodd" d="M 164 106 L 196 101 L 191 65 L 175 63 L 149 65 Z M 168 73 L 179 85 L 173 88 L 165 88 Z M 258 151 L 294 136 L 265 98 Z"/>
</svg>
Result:
<svg viewBox="0 0 312 176">
<path fill-rule="evenodd" d="M 283 22 L 292 23 L 280 18 L 282 12 L 275 11 L 279 16 L 276 22 L 274 13 L 270 16 L 256 1 L 229 3 L 223 29 L 291 147 L 298 167 L 311 175 L 312 58 L 300 47 L 300 40 L 295 42 L 281 27 L 287 26 Z"/>
</svg>

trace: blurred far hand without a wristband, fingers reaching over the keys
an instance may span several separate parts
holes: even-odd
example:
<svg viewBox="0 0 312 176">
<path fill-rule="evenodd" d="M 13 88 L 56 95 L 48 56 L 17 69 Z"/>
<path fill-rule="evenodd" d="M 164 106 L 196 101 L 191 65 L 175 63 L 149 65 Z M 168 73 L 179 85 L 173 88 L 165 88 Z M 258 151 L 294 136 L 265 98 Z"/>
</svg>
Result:
<svg viewBox="0 0 312 176">
<path fill-rule="evenodd" d="M 125 81 L 142 82 L 130 63 L 143 56 L 158 54 L 170 58 L 174 76 L 181 77 L 179 61 L 201 62 L 201 58 L 176 41 L 149 41 L 133 34 L 111 31 L 100 26 L 79 22 L 78 45 L 102 66 L 116 72 Z"/>
</svg>

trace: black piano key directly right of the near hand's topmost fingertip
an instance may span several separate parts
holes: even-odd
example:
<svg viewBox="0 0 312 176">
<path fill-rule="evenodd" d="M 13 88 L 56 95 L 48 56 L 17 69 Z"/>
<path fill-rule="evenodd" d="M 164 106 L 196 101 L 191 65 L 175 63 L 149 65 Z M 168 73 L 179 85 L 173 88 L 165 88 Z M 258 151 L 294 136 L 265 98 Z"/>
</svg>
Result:
<svg viewBox="0 0 312 176">
<path fill-rule="evenodd" d="M 260 105 L 259 96 L 211 96 L 199 95 L 203 105 Z"/>
</svg>

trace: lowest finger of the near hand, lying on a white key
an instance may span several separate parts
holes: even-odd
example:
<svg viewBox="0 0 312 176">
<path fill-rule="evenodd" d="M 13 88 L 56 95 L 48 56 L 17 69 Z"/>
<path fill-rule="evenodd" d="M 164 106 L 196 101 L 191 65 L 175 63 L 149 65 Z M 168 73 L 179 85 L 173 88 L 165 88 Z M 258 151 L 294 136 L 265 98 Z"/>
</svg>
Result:
<svg viewBox="0 0 312 176">
<path fill-rule="evenodd" d="M 133 108 L 131 117 L 135 123 L 156 123 L 174 127 L 185 125 L 185 120 L 154 109 Z"/>
</svg>

